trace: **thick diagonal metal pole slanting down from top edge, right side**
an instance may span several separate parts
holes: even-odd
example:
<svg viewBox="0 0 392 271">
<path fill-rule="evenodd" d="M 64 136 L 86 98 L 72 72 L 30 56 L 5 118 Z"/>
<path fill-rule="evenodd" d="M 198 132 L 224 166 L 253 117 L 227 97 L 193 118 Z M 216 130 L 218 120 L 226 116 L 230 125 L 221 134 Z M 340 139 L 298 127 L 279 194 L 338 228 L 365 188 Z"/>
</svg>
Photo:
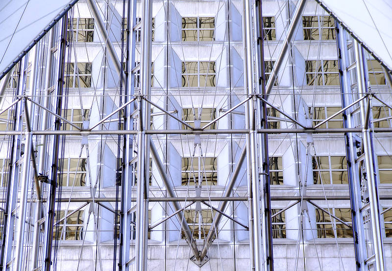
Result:
<svg viewBox="0 0 392 271">
<path fill-rule="evenodd" d="M 272 68 L 270 78 L 268 79 L 268 82 L 266 85 L 266 95 L 270 94 L 270 92 L 272 90 L 272 87 L 273 87 L 273 84 L 277 78 L 276 76 L 278 74 L 280 66 L 282 66 L 283 58 L 284 58 L 285 54 L 287 53 L 287 50 L 289 49 L 289 45 L 290 45 L 291 40 L 293 38 L 296 26 L 297 26 L 299 20 L 301 19 L 302 11 L 304 10 L 305 5 L 306 5 L 306 0 L 299 0 L 297 5 L 298 6 L 297 6 L 297 8 L 294 12 L 294 15 L 293 15 L 293 21 L 290 24 L 289 29 L 287 30 L 287 36 L 286 36 L 285 40 L 283 41 L 282 48 L 280 48 L 278 57 L 275 61 L 275 65 Z"/>
</svg>

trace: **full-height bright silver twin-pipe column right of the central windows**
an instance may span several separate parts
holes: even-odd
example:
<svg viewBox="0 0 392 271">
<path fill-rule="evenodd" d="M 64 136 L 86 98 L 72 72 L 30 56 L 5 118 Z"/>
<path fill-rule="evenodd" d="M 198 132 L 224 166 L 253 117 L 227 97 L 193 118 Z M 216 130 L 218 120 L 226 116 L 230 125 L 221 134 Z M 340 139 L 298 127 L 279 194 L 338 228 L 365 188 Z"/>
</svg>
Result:
<svg viewBox="0 0 392 271">
<path fill-rule="evenodd" d="M 255 94 L 254 86 L 254 53 L 253 53 L 253 22 L 252 2 L 243 0 L 243 24 L 244 24 L 244 86 L 245 94 Z M 260 183 L 257 157 L 257 133 L 256 133 L 256 96 L 245 104 L 245 125 L 250 132 L 246 134 L 246 160 L 248 179 L 248 210 L 249 210 L 249 243 L 251 270 L 261 271 L 262 248 L 261 248 L 261 219 L 260 219 Z"/>
</svg>

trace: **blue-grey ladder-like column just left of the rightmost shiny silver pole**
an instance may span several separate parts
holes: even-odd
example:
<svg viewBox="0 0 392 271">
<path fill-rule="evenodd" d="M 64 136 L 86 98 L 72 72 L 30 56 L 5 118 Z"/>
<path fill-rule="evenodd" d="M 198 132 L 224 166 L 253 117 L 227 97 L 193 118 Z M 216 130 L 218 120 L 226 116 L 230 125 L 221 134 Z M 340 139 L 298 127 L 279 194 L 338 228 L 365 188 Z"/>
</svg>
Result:
<svg viewBox="0 0 392 271">
<path fill-rule="evenodd" d="M 348 104 L 351 104 L 352 89 L 351 81 L 349 79 L 347 67 L 349 64 L 349 57 L 347 55 L 347 38 L 346 32 L 343 27 L 336 22 L 336 41 L 338 44 L 338 62 L 340 70 L 340 87 L 341 87 L 341 98 L 342 108 L 345 108 Z M 343 127 L 354 128 L 351 112 L 352 108 L 349 108 L 343 114 Z M 366 238 L 365 231 L 361 222 L 361 180 L 356 166 L 357 147 L 356 140 L 352 133 L 344 133 L 345 146 L 346 146 L 346 159 L 347 159 L 347 171 L 348 171 L 348 188 L 350 193 L 350 207 L 351 207 L 351 221 L 354 239 L 354 253 L 357 271 L 365 270 L 365 251 L 366 251 Z"/>
</svg>

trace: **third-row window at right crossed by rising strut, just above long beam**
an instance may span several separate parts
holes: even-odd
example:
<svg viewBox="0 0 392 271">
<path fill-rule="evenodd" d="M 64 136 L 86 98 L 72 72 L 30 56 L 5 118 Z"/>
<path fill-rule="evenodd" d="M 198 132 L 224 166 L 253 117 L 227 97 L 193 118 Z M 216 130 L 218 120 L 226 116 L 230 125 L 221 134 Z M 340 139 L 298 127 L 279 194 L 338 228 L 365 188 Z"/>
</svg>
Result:
<svg viewBox="0 0 392 271">
<path fill-rule="evenodd" d="M 340 110 L 342 110 L 342 108 L 338 106 L 315 106 L 313 108 L 309 108 L 309 115 L 313 119 L 313 126 L 316 126 L 321 121 L 334 115 Z M 321 124 L 318 128 L 343 128 L 343 113 L 336 115 L 326 123 Z"/>
</svg>

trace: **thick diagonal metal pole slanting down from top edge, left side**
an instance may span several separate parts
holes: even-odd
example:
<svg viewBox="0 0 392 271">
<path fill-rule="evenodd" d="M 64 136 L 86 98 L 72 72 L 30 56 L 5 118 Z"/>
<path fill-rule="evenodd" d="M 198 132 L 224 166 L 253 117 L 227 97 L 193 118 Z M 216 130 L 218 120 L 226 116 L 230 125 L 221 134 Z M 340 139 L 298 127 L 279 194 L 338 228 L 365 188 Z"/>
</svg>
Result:
<svg viewBox="0 0 392 271">
<path fill-rule="evenodd" d="M 112 41 L 109 39 L 109 35 L 106 31 L 105 24 L 103 23 L 102 18 L 99 15 L 97 4 L 95 3 L 94 0 L 86 0 L 86 1 L 87 1 L 87 5 L 90 8 L 91 13 L 93 14 L 95 22 L 97 23 L 98 30 L 102 35 L 103 42 L 106 43 L 106 47 L 108 49 L 109 56 L 112 59 L 114 66 L 120 75 L 121 73 L 124 72 L 123 67 L 120 63 L 118 56 L 117 56 L 116 50 L 114 49 Z M 145 2 L 145 1 L 143 1 L 143 2 Z M 123 73 L 123 86 L 125 86 L 125 74 L 124 73 Z"/>
</svg>

